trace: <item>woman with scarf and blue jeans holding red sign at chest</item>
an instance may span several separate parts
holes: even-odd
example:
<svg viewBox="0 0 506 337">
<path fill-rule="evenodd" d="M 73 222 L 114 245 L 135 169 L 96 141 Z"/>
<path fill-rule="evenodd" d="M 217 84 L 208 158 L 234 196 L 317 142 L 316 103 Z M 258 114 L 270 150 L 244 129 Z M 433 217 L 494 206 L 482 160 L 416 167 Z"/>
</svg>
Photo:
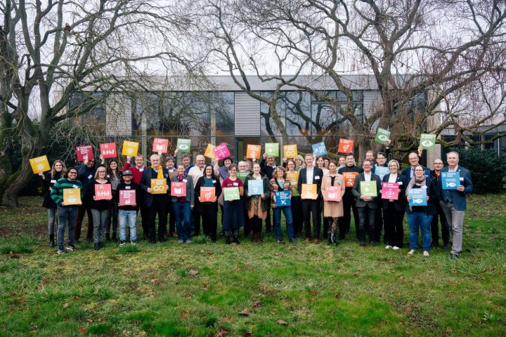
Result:
<svg viewBox="0 0 506 337">
<path fill-rule="evenodd" d="M 188 173 L 185 172 L 183 164 L 178 164 L 177 174 L 171 178 L 171 182 L 186 185 L 186 197 L 174 197 L 174 191 L 171 190 L 172 208 L 176 215 L 176 232 L 179 243 L 191 244 L 191 210 L 195 206 L 195 195 L 193 193 L 193 180 L 188 178 Z"/>
</svg>

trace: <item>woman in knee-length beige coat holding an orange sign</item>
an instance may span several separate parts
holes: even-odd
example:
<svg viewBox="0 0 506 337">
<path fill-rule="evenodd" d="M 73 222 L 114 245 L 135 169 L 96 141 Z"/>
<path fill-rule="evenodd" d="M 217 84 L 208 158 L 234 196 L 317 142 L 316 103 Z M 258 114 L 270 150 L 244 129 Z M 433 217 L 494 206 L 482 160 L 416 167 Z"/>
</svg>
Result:
<svg viewBox="0 0 506 337">
<path fill-rule="evenodd" d="M 322 180 L 322 194 L 323 194 L 323 219 L 324 219 L 324 227 L 328 228 L 328 232 L 330 233 L 329 242 L 330 244 L 335 244 L 335 232 L 337 230 L 337 219 L 340 216 L 344 215 L 343 212 L 343 204 L 342 204 L 342 196 L 344 195 L 344 177 L 337 173 L 337 161 L 331 160 L 329 161 L 329 173 L 323 176 Z M 327 201 L 328 199 L 335 199 L 335 196 L 330 193 L 327 195 L 327 187 L 341 187 L 340 197 L 337 196 L 339 201 Z"/>
</svg>

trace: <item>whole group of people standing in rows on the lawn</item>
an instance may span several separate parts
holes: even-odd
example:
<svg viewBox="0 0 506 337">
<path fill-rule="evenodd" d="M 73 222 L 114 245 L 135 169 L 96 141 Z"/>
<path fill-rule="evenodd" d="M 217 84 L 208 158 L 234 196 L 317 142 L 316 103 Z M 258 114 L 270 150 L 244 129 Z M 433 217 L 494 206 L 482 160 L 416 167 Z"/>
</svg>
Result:
<svg viewBox="0 0 506 337">
<path fill-rule="evenodd" d="M 275 157 L 267 154 L 260 161 L 233 164 L 233 159 L 227 157 L 206 165 L 201 154 L 195 158 L 195 164 L 191 164 L 189 154 L 183 154 L 181 162 L 177 162 L 176 152 L 174 157 L 164 160 L 164 165 L 161 154 L 151 155 L 150 166 L 145 166 L 141 154 L 135 158 L 127 156 L 120 171 L 118 161 L 112 159 L 106 165 L 100 156 L 98 166 L 93 159 L 86 159 L 70 169 L 65 168 L 63 161 L 56 160 L 51 171 L 41 172 L 39 176 L 45 191 L 43 206 L 48 212 L 49 242 L 51 247 L 55 246 L 56 233 L 58 253 L 75 249 L 86 213 L 86 240 L 93 242 L 94 249 L 98 250 L 104 240 L 117 239 L 118 229 L 119 245 L 123 246 L 127 225 L 129 240 L 135 244 L 138 213 L 141 214 L 144 238 L 153 244 L 156 239 L 167 241 L 167 235 L 177 237 L 181 244 L 190 243 L 193 236 L 200 234 L 201 227 L 203 234 L 216 242 L 221 209 L 221 234 L 226 244 L 240 244 L 241 227 L 244 237 L 250 236 L 252 242 L 261 243 L 264 222 L 266 232 L 273 228 L 277 242 L 283 244 L 282 213 L 290 242 L 303 237 L 305 242 L 317 244 L 323 227 L 323 237 L 335 244 L 349 234 L 353 213 L 356 239 L 361 246 L 367 241 L 378 244 L 383 234 L 385 248 L 398 250 L 403 248 L 403 218 L 406 214 L 408 254 L 412 255 L 418 248 L 421 230 L 422 251 L 424 256 L 429 256 L 431 246 L 439 246 L 441 227 L 443 247 L 449 248 L 451 230 L 450 258 L 458 258 L 462 251 L 466 195 L 472 192 L 470 173 L 458 165 L 457 152 L 447 154 L 446 167 L 441 159 L 435 159 L 432 171 L 420 164 L 421 154 L 422 149 L 410 153 L 410 166 L 402 171 L 396 159 L 387 162 L 388 152 L 375 155 L 372 151 L 366 153 L 361 167 L 356 166 L 352 153 L 338 161 L 316 158 L 313 154 L 283 158 L 283 163 L 278 166 Z M 460 173 L 460 184 L 456 190 L 446 190 L 441 183 L 441 173 L 456 171 Z M 153 179 L 163 180 L 167 192 L 156 192 L 151 185 Z M 259 180 L 255 186 L 261 185 L 261 193 L 249 190 L 252 180 Z M 186 193 L 171 193 L 171 182 L 182 184 L 180 186 L 186 187 Z M 363 194 L 361 182 L 375 182 L 375 196 Z M 382 183 L 396 183 L 398 197 L 382 198 Z M 104 184 L 111 185 L 109 199 L 96 196 L 96 185 Z M 304 186 L 316 187 L 313 188 L 316 192 L 306 194 L 302 190 Z M 214 199 L 203 196 L 202 190 L 207 187 L 214 187 Z M 237 187 L 239 197 L 225 198 L 227 187 Z M 339 187 L 340 197 L 325 197 L 331 187 Z M 67 188 L 81 189 L 81 204 L 65 204 L 63 191 Z M 419 188 L 426 190 L 427 206 L 410 205 L 408 191 Z M 136 191 L 134 204 L 119 204 L 122 190 Z M 68 227 L 66 247 L 63 243 L 65 226 Z"/>
</svg>

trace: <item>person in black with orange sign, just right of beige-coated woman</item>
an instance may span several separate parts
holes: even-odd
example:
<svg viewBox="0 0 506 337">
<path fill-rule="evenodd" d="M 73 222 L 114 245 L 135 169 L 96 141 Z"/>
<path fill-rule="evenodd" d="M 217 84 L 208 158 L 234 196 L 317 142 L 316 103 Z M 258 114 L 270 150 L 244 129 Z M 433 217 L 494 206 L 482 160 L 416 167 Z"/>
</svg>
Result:
<svg viewBox="0 0 506 337">
<path fill-rule="evenodd" d="M 355 184 L 355 178 L 358 173 L 363 172 L 363 169 L 355 165 L 355 157 L 353 153 L 346 154 L 346 166 L 342 167 L 337 171 L 344 177 L 344 186 L 346 190 L 343 196 L 343 213 L 342 220 L 339 221 L 339 225 L 342 223 L 344 231 L 339 229 L 339 239 L 344 239 L 345 234 L 349 233 L 351 223 L 351 211 L 353 211 L 353 220 L 355 222 L 356 238 L 358 239 L 358 209 L 356 208 L 355 197 L 353 196 L 353 185 Z"/>
</svg>

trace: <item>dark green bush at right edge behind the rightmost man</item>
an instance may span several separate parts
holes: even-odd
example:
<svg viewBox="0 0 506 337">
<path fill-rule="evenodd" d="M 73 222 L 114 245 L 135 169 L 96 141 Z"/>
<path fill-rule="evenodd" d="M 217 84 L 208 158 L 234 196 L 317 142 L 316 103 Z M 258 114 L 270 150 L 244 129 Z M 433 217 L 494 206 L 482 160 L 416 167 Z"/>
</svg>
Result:
<svg viewBox="0 0 506 337">
<path fill-rule="evenodd" d="M 473 192 L 476 194 L 504 192 L 502 181 L 506 179 L 506 158 L 499 157 L 493 149 L 479 147 L 453 148 L 459 153 L 459 165 L 471 171 Z"/>
</svg>

